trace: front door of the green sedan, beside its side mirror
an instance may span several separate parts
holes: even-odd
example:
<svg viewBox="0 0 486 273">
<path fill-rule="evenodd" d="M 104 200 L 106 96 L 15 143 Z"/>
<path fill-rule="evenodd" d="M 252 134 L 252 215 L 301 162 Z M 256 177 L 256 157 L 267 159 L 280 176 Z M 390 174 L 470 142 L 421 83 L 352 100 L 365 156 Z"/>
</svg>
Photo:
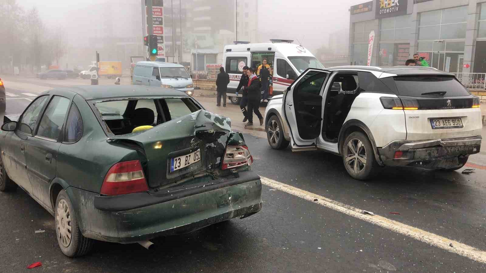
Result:
<svg viewBox="0 0 486 273">
<path fill-rule="evenodd" d="M 32 194 L 32 187 L 26 171 L 25 151 L 37 124 L 38 117 L 49 96 L 35 99 L 20 117 L 17 129 L 5 137 L 5 168 L 10 178 L 28 193 Z"/>
</svg>

